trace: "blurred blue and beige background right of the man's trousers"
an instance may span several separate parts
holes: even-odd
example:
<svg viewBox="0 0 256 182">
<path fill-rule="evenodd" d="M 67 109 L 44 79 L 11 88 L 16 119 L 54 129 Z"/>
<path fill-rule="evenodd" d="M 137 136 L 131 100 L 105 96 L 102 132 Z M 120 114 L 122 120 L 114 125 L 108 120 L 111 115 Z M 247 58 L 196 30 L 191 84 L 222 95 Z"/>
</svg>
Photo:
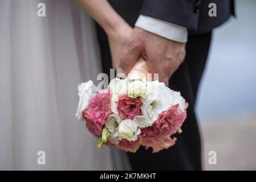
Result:
<svg viewBox="0 0 256 182">
<path fill-rule="evenodd" d="M 215 29 L 200 85 L 206 170 L 256 170 L 256 1 L 235 1 L 237 18 Z M 208 163 L 216 151 L 217 165 Z"/>
</svg>

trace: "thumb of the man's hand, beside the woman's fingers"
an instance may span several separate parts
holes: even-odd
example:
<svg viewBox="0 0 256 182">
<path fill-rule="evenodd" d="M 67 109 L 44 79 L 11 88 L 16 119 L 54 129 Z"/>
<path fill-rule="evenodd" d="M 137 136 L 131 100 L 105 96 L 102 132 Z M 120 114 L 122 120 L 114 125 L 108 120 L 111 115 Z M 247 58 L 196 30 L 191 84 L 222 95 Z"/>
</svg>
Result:
<svg viewBox="0 0 256 182">
<path fill-rule="evenodd" d="M 121 53 L 119 67 L 116 69 L 117 73 L 127 75 L 140 56 L 141 48 L 139 46 L 131 46 L 131 44 L 133 43 L 129 43 L 124 48 L 124 52 Z"/>
</svg>

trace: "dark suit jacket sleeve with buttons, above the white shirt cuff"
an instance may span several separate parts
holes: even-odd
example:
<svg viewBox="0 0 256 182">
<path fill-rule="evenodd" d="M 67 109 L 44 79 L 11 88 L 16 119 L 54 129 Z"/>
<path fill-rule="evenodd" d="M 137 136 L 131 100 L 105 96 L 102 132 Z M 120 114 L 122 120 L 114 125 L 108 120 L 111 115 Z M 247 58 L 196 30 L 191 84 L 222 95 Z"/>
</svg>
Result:
<svg viewBox="0 0 256 182">
<path fill-rule="evenodd" d="M 209 3 L 215 3 L 217 16 L 210 17 Z M 144 0 L 140 14 L 172 22 L 193 31 L 210 31 L 234 14 L 230 0 Z"/>
</svg>

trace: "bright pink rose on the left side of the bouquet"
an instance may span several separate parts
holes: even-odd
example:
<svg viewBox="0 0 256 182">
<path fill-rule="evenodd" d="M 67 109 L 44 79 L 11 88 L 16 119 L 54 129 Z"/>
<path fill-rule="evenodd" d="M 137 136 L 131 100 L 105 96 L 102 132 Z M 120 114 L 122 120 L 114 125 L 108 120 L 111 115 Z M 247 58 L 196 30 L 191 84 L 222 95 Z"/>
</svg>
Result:
<svg viewBox="0 0 256 182">
<path fill-rule="evenodd" d="M 108 88 L 91 99 L 88 110 L 95 125 L 104 125 L 111 114 L 111 96 L 111 89 Z"/>
</svg>

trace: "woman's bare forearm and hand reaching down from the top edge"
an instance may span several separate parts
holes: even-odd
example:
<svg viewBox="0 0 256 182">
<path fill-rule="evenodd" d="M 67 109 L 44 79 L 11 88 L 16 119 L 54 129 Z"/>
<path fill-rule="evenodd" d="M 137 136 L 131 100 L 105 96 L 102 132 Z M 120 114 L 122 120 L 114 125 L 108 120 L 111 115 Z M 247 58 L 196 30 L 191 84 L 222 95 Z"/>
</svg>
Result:
<svg viewBox="0 0 256 182">
<path fill-rule="evenodd" d="M 96 20 L 108 35 L 112 66 L 119 65 L 120 51 L 127 42 L 133 28 L 105 0 L 75 0 Z"/>
</svg>

